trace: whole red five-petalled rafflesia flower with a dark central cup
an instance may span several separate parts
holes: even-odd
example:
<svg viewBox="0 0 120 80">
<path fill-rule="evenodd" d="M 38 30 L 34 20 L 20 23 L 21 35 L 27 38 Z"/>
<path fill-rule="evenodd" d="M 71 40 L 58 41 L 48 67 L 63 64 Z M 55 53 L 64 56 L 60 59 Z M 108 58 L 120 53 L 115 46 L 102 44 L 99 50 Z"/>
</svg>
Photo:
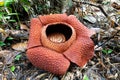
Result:
<svg viewBox="0 0 120 80">
<path fill-rule="evenodd" d="M 38 16 L 31 20 L 27 57 L 40 69 L 63 75 L 71 62 L 83 67 L 93 57 L 93 34 L 74 15 Z"/>
</svg>

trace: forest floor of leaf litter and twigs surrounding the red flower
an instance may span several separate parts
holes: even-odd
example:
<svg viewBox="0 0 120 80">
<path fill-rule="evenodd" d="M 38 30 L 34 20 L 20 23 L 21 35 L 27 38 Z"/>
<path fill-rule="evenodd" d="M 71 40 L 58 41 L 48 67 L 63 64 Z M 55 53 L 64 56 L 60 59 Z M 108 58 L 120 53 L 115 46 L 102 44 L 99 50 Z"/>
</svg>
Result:
<svg viewBox="0 0 120 80">
<path fill-rule="evenodd" d="M 0 0 L 0 80 L 120 80 L 120 0 L 6 1 Z M 26 57 L 30 19 L 53 13 L 75 15 L 96 32 L 94 57 L 84 68 L 71 64 L 63 76 Z"/>
</svg>

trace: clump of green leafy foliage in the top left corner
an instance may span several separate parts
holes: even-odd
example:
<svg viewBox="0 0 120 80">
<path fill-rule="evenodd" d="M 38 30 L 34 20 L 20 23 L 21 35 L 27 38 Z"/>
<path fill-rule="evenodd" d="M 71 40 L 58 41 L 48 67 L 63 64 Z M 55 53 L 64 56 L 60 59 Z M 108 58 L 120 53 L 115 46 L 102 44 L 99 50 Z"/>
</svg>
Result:
<svg viewBox="0 0 120 80">
<path fill-rule="evenodd" d="M 9 28 L 13 28 L 9 23 L 17 23 L 15 29 L 19 29 L 21 12 L 28 13 L 30 6 L 28 0 L 0 0 L 0 23 L 8 24 Z"/>
</svg>

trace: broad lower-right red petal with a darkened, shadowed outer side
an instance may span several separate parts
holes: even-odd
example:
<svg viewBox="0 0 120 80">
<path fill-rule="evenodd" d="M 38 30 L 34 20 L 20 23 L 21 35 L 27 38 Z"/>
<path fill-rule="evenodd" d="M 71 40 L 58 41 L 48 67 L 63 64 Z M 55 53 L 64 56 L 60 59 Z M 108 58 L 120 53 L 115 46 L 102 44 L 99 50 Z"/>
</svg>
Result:
<svg viewBox="0 0 120 80">
<path fill-rule="evenodd" d="M 83 67 L 94 54 L 94 44 L 89 37 L 78 37 L 71 47 L 63 53 L 71 62 Z"/>
</svg>

